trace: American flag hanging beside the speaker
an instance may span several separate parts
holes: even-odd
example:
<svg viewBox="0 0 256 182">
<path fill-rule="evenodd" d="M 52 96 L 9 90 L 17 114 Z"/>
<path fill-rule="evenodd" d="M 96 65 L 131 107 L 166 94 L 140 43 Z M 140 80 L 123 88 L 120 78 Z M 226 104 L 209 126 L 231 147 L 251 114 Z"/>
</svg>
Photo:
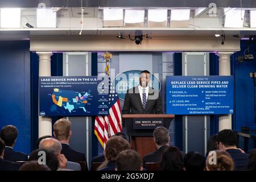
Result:
<svg viewBox="0 0 256 182">
<path fill-rule="evenodd" d="M 97 136 L 102 147 L 105 148 L 106 141 L 117 132 L 122 132 L 121 107 L 113 83 L 109 77 L 109 115 L 96 116 L 94 134 Z"/>
</svg>

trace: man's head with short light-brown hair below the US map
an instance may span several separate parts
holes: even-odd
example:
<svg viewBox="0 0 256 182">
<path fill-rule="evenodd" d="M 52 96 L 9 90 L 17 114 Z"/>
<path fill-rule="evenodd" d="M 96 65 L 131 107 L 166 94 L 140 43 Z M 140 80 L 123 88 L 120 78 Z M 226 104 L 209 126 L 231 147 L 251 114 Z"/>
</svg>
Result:
<svg viewBox="0 0 256 182">
<path fill-rule="evenodd" d="M 67 140 L 70 130 L 71 122 L 64 118 L 57 120 L 53 125 L 53 131 L 58 140 Z"/>
</svg>

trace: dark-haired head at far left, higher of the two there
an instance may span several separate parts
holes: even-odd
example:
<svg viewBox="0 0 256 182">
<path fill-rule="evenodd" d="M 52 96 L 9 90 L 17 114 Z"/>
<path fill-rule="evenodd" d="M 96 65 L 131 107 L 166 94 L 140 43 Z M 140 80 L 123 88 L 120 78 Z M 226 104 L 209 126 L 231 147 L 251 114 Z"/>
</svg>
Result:
<svg viewBox="0 0 256 182">
<path fill-rule="evenodd" d="M 7 125 L 1 130 L 1 139 L 5 141 L 6 146 L 12 146 L 18 137 L 18 129 L 13 125 Z"/>
</svg>

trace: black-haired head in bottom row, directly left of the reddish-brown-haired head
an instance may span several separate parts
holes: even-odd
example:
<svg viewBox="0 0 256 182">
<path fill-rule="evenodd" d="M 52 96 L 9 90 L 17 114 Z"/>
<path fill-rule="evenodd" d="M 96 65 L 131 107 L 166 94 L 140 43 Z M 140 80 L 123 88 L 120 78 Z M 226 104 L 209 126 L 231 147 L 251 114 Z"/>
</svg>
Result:
<svg viewBox="0 0 256 182">
<path fill-rule="evenodd" d="M 198 152 L 188 152 L 183 159 L 184 171 L 204 171 L 205 157 Z"/>
</svg>

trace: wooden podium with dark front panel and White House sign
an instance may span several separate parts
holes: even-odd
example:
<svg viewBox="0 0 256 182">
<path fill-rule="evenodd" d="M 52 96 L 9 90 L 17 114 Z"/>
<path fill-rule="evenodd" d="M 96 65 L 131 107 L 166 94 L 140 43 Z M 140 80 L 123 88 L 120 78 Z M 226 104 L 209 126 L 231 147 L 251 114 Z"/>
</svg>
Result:
<svg viewBox="0 0 256 182">
<path fill-rule="evenodd" d="M 142 157 L 155 151 L 153 139 L 155 127 L 163 126 L 169 129 L 174 117 L 174 114 L 123 114 L 123 124 L 130 137 L 131 149 L 137 151 Z"/>
</svg>

